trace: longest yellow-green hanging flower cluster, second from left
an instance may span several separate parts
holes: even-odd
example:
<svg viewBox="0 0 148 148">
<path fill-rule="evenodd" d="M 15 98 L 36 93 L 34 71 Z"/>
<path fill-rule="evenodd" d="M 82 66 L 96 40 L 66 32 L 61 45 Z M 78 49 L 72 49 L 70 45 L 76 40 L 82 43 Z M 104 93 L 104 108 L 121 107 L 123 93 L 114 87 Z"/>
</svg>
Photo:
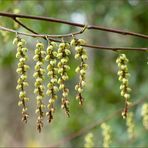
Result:
<svg viewBox="0 0 148 148">
<path fill-rule="evenodd" d="M 44 74 L 45 74 L 45 69 L 43 68 L 43 64 L 44 64 L 45 55 L 46 52 L 44 51 L 44 45 L 38 42 L 36 44 L 35 55 L 33 57 L 33 60 L 36 61 L 35 72 L 33 74 L 33 77 L 36 79 L 34 84 L 35 86 L 34 93 L 37 94 L 36 113 L 38 114 L 37 129 L 39 130 L 39 132 L 43 127 L 43 122 L 42 122 L 44 117 L 43 109 L 45 108 L 45 105 L 43 104 L 42 101 L 44 98 L 44 90 L 45 90 L 45 86 L 43 85 Z"/>
</svg>

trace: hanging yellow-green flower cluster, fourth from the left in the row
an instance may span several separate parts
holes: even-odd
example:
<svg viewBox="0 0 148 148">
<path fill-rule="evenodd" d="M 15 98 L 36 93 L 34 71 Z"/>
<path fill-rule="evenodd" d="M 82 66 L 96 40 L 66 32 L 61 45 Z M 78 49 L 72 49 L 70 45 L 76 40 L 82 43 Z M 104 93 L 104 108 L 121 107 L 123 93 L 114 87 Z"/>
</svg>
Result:
<svg viewBox="0 0 148 148">
<path fill-rule="evenodd" d="M 57 58 L 60 60 L 58 62 L 58 73 L 60 75 L 60 78 L 58 79 L 59 89 L 62 90 L 62 102 L 61 102 L 61 108 L 65 110 L 65 113 L 67 116 L 69 116 L 69 100 L 68 100 L 68 94 L 69 89 L 65 86 L 65 81 L 69 79 L 69 76 L 67 74 L 67 71 L 70 69 L 68 65 L 69 61 L 69 55 L 71 54 L 70 45 L 68 43 L 60 43 Z"/>
</svg>

